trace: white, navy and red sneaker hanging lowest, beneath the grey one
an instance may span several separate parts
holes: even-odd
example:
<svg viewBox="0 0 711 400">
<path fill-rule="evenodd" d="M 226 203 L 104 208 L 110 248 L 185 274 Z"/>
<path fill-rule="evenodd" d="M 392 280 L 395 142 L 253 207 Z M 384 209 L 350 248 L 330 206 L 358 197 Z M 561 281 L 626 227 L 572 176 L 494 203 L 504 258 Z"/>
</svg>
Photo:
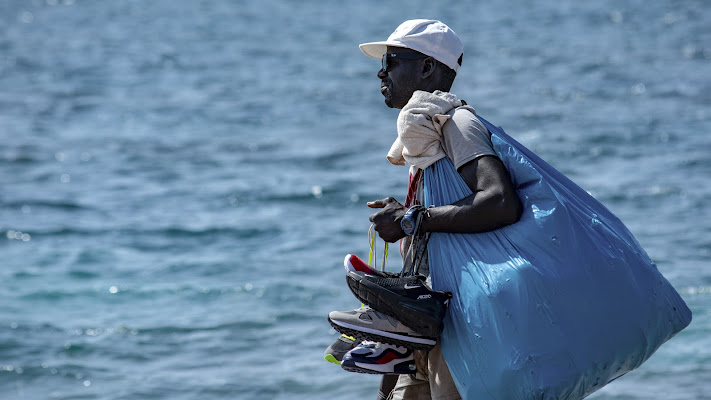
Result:
<svg viewBox="0 0 711 400">
<path fill-rule="evenodd" d="M 411 349 L 387 343 L 365 341 L 343 356 L 341 368 L 361 374 L 414 374 Z"/>
</svg>

